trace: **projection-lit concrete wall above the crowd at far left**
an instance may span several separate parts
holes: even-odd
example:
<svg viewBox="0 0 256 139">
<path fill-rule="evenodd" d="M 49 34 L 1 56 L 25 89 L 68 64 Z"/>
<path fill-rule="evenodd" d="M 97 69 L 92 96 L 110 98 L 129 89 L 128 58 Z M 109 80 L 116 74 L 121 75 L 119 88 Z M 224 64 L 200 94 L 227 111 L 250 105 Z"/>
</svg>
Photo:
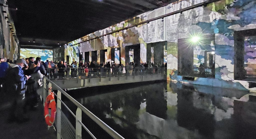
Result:
<svg viewBox="0 0 256 139">
<path fill-rule="evenodd" d="M 1 0 L 0 2 L 6 5 L 7 1 Z M 6 13 L 3 11 L 6 11 Z M 8 19 L 5 17 L 8 17 Z M 10 28 L 13 29 L 10 30 Z M 10 60 L 16 60 L 19 57 L 19 46 L 14 39 L 13 33 L 16 33 L 16 31 L 12 18 L 9 15 L 8 6 L 0 6 L 0 58 L 6 57 Z"/>
</svg>

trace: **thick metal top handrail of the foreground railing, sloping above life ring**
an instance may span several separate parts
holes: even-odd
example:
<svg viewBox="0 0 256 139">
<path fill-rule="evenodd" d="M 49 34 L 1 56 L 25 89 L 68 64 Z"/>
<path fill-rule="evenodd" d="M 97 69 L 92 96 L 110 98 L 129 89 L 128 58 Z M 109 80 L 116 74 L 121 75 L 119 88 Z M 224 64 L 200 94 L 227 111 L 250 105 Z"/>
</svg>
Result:
<svg viewBox="0 0 256 139">
<path fill-rule="evenodd" d="M 101 119 L 99 119 L 97 116 L 95 116 L 91 111 L 89 111 L 87 108 L 85 108 L 82 104 L 80 104 L 76 99 L 71 97 L 68 93 L 63 91 L 59 86 L 57 86 L 54 82 L 49 80 L 44 76 L 44 78 L 50 82 L 52 85 L 56 87 L 57 90 L 59 90 L 63 95 L 65 95 L 72 103 L 74 103 L 78 108 L 80 108 L 87 116 L 89 116 L 95 123 L 97 123 L 103 130 L 105 130 L 110 136 L 113 138 L 122 138 L 120 134 L 118 134 L 116 131 L 114 131 L 111 127 L 109 127 L 106 123 L 104 123 Z"/>
</svg>

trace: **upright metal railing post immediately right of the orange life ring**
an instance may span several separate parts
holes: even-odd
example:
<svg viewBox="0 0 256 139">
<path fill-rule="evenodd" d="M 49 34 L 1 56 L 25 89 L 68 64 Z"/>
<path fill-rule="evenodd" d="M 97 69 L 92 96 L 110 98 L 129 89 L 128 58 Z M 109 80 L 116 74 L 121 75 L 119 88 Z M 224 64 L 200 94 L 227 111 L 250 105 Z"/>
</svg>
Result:
<svg viewBox="0 0 256 139">
<path fill-rule="evenodd" d="M 61 92 L 57 92 L 57 139 L 61 139 Z"/>
</svg>

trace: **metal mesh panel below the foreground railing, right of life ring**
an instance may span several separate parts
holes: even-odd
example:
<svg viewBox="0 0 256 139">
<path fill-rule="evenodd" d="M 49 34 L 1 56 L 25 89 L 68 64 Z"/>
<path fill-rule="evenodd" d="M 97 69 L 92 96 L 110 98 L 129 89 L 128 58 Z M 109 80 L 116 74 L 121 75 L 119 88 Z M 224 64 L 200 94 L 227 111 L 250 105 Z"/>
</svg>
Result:
<svg viewBox="0 0 256 139">
<path fill-rule="evenodd" d="M 65 114 L 58 109 L 57 112 L 61 112 L 61 138 L 63 139 L 75 139 L 76 138 L 76 129 L 70 123 Z M 57 121 L 57 119 L 55 120 Z M 57 122 L 56 122 L 57 124 Z"/>
</svg>

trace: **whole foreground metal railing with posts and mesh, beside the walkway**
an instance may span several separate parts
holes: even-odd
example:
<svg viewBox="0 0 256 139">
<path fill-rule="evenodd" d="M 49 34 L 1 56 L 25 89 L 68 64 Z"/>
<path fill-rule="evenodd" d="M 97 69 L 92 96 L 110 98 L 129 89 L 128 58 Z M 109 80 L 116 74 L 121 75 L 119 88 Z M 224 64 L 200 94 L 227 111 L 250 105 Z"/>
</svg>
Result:
<svg viewBox="0 0 256 139">
<path fill-rule="evenodd" d="M 54 85 L 58 90 L 57 94 L 57 113 L 55 119 L 55 126 L 57 127 L 57 138 L 63 139 L 71 139 L 71 138 L 82 138 L 82 127 L 91 135 L 92 138 L 96 138 L 88 128 L 82 123 L 82 112 L 85 113 L 88 117 L 90 117 L 95 123 L 97 123 L 104 131 L 106 131 L 113 138 L 123 138 L 120 134 L 114 131 L 111 127 L 109 127 L 106 123 L 104 123 L 101 119 L 95 116 L 92 112 L 90 112 L 87 108 L 81 105 L 77 100 L 71 97 L 68 93 L 63 91 L 59 86 L 49 80 L 47 77 L 44 77 L 44 90 L 43 94 L 41 94 L 43 101 L 45 101 L 47 95 L 50 93 L 49 88 Z M 61 95 L 66 96 L 70 102 L 77 106 L 76 113 L 74 114 L 70 108 L 61 100 Z M 69 119 L 65 116 L 63 111 L 61 110 L 61 104 L 65 106 L 68 111 L 72 114 L 74 118 L 76 118 L 76 127 L 73 127 Z"/>
</svg>

